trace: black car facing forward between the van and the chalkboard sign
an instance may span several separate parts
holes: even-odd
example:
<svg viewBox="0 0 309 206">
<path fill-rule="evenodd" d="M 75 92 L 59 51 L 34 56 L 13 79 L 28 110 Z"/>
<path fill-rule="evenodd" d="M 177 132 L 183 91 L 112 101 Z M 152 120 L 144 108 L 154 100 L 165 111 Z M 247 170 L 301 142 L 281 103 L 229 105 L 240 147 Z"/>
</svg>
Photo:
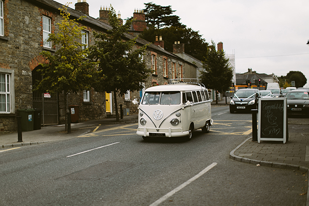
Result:
<svg viewBox="0 0 309 206">
<path fill-rule="evenodd" d="M 259 98 L 261 97 L 258 89 L 239 89 L 230 101 L 230 113 L 236 111 L 250 111 L 258 109 Z"/>
</svg>

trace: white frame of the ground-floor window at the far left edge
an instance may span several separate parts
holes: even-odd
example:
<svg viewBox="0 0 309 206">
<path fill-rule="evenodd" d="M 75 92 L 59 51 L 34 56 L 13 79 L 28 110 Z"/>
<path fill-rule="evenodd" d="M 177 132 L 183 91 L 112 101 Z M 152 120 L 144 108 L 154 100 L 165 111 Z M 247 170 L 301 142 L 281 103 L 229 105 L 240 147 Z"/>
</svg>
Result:
<svg viewBox="0 0 309 206">
<path fill-rule="evenodd" d="M 0 106 L 0 114 L 15 113 L 15 93 L 14 93 L 14 71 L 12 69 L 0 68 L 0 74 L 4 75 L 4 91 L 0 89 L 0 101 L 4 97 L 4 111 Z M 0 76 L 1 76 L 0 75 Z"/>
</svg>

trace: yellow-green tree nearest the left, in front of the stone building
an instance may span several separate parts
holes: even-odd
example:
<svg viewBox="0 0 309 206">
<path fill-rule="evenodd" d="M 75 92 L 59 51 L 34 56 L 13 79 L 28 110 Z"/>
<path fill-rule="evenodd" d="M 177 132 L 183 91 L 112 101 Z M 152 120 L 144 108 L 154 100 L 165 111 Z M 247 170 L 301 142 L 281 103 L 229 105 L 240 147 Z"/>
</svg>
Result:
<svg viewBox="0 0 309 206">
<path fill-rule="evenodd" d="M 43 78 L 35 83 L 34 90 L 51 94 L 64 92 L 65 112 L 67 112 L 66 94 L 90 90 L 96 73 L 96 63 L 86 59 L 89 50 L 82 49 L 81 38 L 84 27 L 79 26 L 76 21 L 82 20 L 83 16 L 70 19 L 67 5 L 59 10 L 62 16 L 61 22 L 57 23 L 59 32 L 51 33 L 48 38 L 57 50 L 54 54 L 49 51 L 40 53 L 48 63 L 41 64 L 42 68 L 38 69 Z"/>
</svg>

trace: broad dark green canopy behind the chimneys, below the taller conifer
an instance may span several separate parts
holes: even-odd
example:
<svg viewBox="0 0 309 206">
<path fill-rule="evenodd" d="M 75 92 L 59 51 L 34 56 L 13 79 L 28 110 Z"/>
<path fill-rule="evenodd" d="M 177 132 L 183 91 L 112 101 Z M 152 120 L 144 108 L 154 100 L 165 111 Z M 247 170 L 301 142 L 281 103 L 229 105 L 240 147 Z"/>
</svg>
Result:
<svg viewBox="0 0 309 206">
<path fill-rule="evenodd" d="M 155 41 L 155 36 L 162 36 L 164 40 L 164 49 L 173 52 L 173 44 L 175 41 L 185 43 L 184 52 L 199 60 L 206 55 L 207 43 L 198 31 L 186 27 L 165 27 L 162 29 L 150 28 L 144 30 L 140 35 L 141 38 L 150 42 Z"/>
</svg>

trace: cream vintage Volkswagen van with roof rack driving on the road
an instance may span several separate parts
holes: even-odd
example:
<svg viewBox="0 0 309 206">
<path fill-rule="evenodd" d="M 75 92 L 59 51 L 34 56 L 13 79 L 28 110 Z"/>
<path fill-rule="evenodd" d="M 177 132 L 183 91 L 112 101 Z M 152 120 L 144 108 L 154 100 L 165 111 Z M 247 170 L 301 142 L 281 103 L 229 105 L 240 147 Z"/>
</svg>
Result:
<svg viewBox="0 0 309 206">
<path fill-rule="evenodd" d="M 133 100 L 133 103 L 137 103 Z M 152 137 L 192 138 L 194 130 L 209 132 L 211 100 L 200 83 L 175 83 L 150 87 L 139 105 L 137 134 Z"/>
</svg>

